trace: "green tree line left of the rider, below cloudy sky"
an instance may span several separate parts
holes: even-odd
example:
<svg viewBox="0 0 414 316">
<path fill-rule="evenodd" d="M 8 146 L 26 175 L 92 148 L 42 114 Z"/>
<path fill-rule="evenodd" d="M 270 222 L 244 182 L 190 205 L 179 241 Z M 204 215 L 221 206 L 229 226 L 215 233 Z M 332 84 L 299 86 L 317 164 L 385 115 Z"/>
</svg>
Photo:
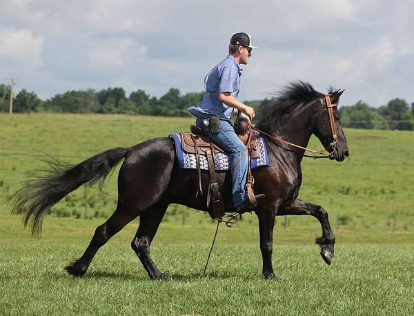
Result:
<svg viewBox="0 0 414 316">
<path fill-rule="evenodd" d="M 131 92 L 123 88 L 107 88 L 99 91 L 70 90 L 63 94 L 41 100 L 35 92 L 23 89 L 13 98 L 13 112 L 58 112 L 58 113 L 104 113 L 159 115 L 168 117 L 190 116 L 187 108 L 197 105 L 204 92 L 189 92 L 181 95 L 178 89 L 170 88 L 165 95 L 150 97 L 144 90 Z M 10 93 L 8 86 L 0 85 L 0 111 L 8 112 Z"/>
</svg>

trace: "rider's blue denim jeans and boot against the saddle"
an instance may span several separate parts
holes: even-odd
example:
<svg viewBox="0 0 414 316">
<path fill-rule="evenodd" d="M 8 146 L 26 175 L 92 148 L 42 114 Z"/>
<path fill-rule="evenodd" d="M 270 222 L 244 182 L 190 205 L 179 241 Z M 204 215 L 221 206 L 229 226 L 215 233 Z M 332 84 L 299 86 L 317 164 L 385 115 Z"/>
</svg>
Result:
<svg viewBox="0 0 414 316">
<path fill-rule="evenodd" d="M 226 150 L 229 155 L 230 171 L 233 184 L 233 204 L 235 208 L 240 204 L 248 201 L 246 192 L 246 178 L 248 172 L 248 154 L 247 148 L 237 137 L 235 129 L 228 121 L 220 120 L 221 130 L 217 134 L 213 134 L 210 126 L 203 124 L 203 119 L 197 117 L 197 127 L 201 128 L 208 134 L 221 148 Z"/>
</svg>

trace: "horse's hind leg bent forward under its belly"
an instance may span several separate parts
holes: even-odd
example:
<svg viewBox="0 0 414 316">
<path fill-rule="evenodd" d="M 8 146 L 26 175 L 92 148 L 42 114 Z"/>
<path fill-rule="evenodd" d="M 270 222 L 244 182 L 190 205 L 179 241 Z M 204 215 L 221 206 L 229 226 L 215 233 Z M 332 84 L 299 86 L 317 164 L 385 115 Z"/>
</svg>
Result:
<svg viewBox="0 0 414 316">
<path fill-rule="evenodd" d="M 150 245 L 167 207 L 167 205 L 159 203 L 146 209 L 139 217 L 137 234 L 131 243 L 132 249 L 141 260 L 150 279 L 164 279 L 164 275 L 159 272 L 150 257 Z"/>
</svg>

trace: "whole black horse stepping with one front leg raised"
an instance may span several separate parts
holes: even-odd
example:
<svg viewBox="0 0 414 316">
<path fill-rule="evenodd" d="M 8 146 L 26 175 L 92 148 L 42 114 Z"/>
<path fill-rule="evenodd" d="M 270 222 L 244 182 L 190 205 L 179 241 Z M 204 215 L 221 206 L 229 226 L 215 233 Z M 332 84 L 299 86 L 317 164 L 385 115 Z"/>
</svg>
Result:
<svg viewBox="0 0 414 316">
<path fill-rule="evenodd" d="M 331 91 L 332 103 L 339 101 L 339 90 Z M 291 83 L 275 99 L 268 115 L 259 121 L 257 128 L 291 143 L 306 147 L 315 134 L 331 159 L 342 161 L 348 156 L 346 138 L 339 121 L 339 112 L 333 108 L 336 146 L 333 143 L 331 124 L 324 95 L 309 83 Z M 275 216 L 312 215 L 322 226 L 322 236 L 316 239 L 321 255 L 331 264 L 335 237 L 322 206 L 297 199 L 302 181 L 300 163 L 304 150 L 266 138 L 269 166 L 253 170 L 255 193 L 264 193 L 266 198 L 256 211 L 259 219 L 260 250 L 263 256 L 263 275 L 273 278 L 272 248 Z M 76 166 L 61 161 L 49 161 L 48 175 L 28 181 L 12 197 L 13 212 L 24 213 L 25 226 L 31 219 L 32 234 L 41 233 L 43 216 L 59 200 L 82 184 L 94 184 L 104 179 L 119 162 L 124 163 L 118 176 L 118 202 L 110 218 L 98 226 L 83 255 L 73 261 L 66 270 L 81 277 L 93 257 L 106 242 L 137 216 L 139 228 L 132 240 L 135 251 L 151 279 L 163 279 L 150 257 L 150 244 L 157 233 L 161 219 L 169 204 L 182 204 L 198 210 L 207 210 L 206 195 L 197 195 L 197 171 L 180 169 L 175 158 L 172 139 L 168 137 L 150 139 L 130 148 L 114 148 L 95 155 Z M 234 211 L 231 195 L 231 175 L 217 172 L 221 196 L 228 212 Z M 208 172 L 201 173 L 203 192 L 209 184 Z"/>
</svg>

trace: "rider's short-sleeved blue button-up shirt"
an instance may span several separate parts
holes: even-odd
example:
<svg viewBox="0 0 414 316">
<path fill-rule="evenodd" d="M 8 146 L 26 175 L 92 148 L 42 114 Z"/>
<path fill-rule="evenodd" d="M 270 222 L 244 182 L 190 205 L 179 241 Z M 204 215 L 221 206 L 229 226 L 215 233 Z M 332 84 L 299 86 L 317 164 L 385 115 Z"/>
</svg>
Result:
<svg viewBox="0 0 414 316">
<path fill-rule="evenodd" d="M 221 119 L 230 119 L 233 108 L 222 103 L 219 100 L 219 94 L 231 92 L 234 97 L 237 97 L 240 89 L 240 76 L 242 76 L 242 68 L 233 56 L 228 55 L 208 72 L 204 79 L 206 95 L 198 106 L 192 106 L 188 110 L 196 117 L 207 118 L 218 115 Z"/>
</svg>

